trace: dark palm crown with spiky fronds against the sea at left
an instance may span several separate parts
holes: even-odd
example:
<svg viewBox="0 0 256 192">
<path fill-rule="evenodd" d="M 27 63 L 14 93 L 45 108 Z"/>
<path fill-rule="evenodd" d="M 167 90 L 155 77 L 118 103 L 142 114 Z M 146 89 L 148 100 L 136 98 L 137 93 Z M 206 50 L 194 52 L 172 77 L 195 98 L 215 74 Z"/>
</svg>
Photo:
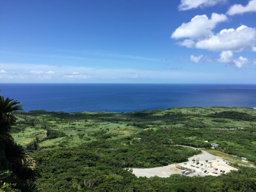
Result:
<svg viewBox="0 0 256 192">
<path fill-rule="evenodd" d="M 11 114 L 13 111 L 23 110 L 20 102 L 0 95 L 0 135 L 9 131 L 16 118 Z"/>
</svg>

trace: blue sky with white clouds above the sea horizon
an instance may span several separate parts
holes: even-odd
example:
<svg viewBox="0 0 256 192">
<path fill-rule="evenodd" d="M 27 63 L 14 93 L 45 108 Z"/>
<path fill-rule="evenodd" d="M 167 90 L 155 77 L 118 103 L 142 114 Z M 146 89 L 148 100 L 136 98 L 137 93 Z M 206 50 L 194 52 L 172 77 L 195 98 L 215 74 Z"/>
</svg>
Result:
<svg viewBox="0 0 256 192">
<path fill-rule="evenodd" d="M 256 83 L 256 0 L 0 0 L 0 83 Z"/>
</svg>

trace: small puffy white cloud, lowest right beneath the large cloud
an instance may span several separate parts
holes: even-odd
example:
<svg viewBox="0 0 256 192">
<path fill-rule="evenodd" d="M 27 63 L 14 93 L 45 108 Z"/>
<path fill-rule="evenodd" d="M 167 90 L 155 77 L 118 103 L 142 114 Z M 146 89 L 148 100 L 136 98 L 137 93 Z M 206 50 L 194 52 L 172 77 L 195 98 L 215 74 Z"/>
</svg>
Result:
<svg viewBox="0 0 256 192">
<path fill-rule="evenodd" d="M 235 67 L 241 68 L 244 65 L 252 64 L 248 58 L 239 56 L 238 59 L 233 59 L 233 52 L 232 51 L 222 51 L 219 55 L 220 58 L 217 59 L 218 62 L 226 62 L 229 64 L 234 65 Z"/>
</svg>

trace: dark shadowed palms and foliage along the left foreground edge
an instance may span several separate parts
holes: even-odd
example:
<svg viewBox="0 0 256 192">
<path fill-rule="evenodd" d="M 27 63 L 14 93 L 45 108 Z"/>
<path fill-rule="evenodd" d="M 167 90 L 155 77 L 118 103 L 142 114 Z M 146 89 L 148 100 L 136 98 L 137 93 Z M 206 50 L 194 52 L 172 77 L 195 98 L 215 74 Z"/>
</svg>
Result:
<svg viewBox="0 0 256 192">
<path fill-rule="evenodd" d="M 38 191 L 34 181 L 40 176 L 35 160 L 12 138 L 16 118 L 11 113 L 22 110 L 19 102 L 0 96 L 0 191 Z"/>
</svg>

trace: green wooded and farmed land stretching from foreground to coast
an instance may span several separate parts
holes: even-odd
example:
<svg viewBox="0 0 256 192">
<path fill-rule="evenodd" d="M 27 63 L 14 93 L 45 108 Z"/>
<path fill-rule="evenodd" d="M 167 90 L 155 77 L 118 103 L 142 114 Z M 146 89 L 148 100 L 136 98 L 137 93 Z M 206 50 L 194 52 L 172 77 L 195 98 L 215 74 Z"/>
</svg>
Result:
<svg viewBox="0 0 256 192">
<path fill-rule="evenodd" d="M 0 101 L 0 191 L 254 192 L 256 110 L 191 107 L 131 113 L 21 111 Z M 204 142 L 209 141 L 208 143 Z M 246 157 L 218 177 L 139 177 L 129 168 L 186 162 L 177 145 Z M 241 164 L 243 164 L 241 162 Z"/>
</svg>

